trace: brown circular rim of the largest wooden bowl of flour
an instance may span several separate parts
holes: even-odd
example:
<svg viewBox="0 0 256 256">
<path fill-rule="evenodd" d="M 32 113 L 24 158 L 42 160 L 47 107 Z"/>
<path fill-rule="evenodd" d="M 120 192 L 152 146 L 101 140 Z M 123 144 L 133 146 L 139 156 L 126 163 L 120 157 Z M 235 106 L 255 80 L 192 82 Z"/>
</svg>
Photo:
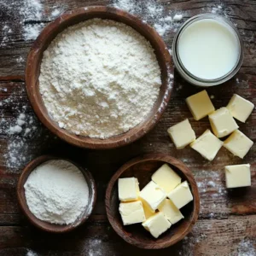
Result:
<svg viewBox="0 0 256 256">
<path fill-rule="evenodd" d="M 73 20 L 74 17 L 79 15 L 93 14 L 95 15 L 95 17 L 99 17 L 99 15 L 106 14 L 106 13 L 115 15 L 117 18 L 121 17 L 125 20 L 129 20 L 129 22 L 133 24 L 137 22 L 137 25 L 138 25 L 137 27 L 139 27 L 145 33 L 150 35 L 150 37 L 154 38 L 154 41 L 157 41 L 157 45 L 158 45 L 157 49 L 159 49 L 160 51 L 160 58 L 162 58 L 163 61 L 166 62 L 166 66 L 160 67 L 160 68 L 161 68 L 161 71 L 165 70 L 165 73 L 167 75 L 166 75 L 165 81 L 162 81 L 162 84 L 161 84 L 161 86 L 163 86 L 163 84 L 166 84 L 166 88 L 162 90 L 163 96 L 161 98 L 161 102 L 159 103 L 159 107 L 156 108 L 154 112 L 149 114 L 150 116 L 148 116 L 147 119 L 145 119 L 142 123 L 138 124 L 138 125 L 142 125 L 139 128 L 139 130 L 137 132 L 133 132 L 133 133 L 131 132 L 131 134 L 129 134 L 129 131 L 134 131 L 134 129 L 137 128 L 138 126 L 137 125 L 125 133 L 102 140 L 99 138 L 76 136 L 75 134 L 65 129 L 61 129 L 55 123 L 55 121 L 49 117 L 49 114 L 47 113 L 46 109 L 44 109 L 44 103 L 37 101 L 37 96 L 38 98 L 42 98 L 42 97 L 40 96 L 40 93 L 38 93 L 38 91 L 36 90 L 38 85 L 33 83 L 31 67 L 34 63 L 35 56 L 37 56 L 41 51 L 44 51 L 43 50 L 44 45 L 46 44 L 47 38 L 49 38 L 49 35 L 51 34 L 51 32 L 57 29 L 58 26 L 61 26 L 62 23 L 68 22 L 69 20 Z M 111 18 L 108 18 L 108 19 L 111 20 Z M 83 20 L 79 22 L 82 22 L 82 21 Z M 123 21 L 119 21 L 119 22 L 125 23 Z M 72 26 L 72 24 L 70 26 Z M 149 39 L 148 41 L 150 42 Z M 143 20 L 140 20 L 137 16 L 130 15 L 129 13 L 126 13 L 123 10 L 115 9 L 113 7 L 106 7 L 106 6 L 90 6 L 90 7 L 73 9 L 72 11 L 68 11 L 67 13 L 64 13 L 63 15 L 58 17 L 56 20 L 49 23 L 48 26 L 44 27 L 44 30 L 39 34 L 38 38 L 32 45 L 32 48 L 30 49 L 30 52 L 27 56 L 26 92 L 32 104 L 32 108 L 38 116 L 38 119 L 40 119 L 40 121 L 49 129 L 49 131 L 53 132 L 57 137 L 60 137 L 62 140 L 66 141 L 67 143 L 73 144 L 75 146 L 79 146 L 81 148 L 95 148 L 95 149 L 118 148 L 118 147 L 130 144 L 136 141 L 137 139 L 139 139 L 140 137 L 143 137 L 148 131 L 153 129 L 154 125 L 158 123 L 158 121 L 160 120 L 160 117 L 166 110 L 167 103 L 171 98 L 173 84 L 172 85 L 170 84 L 169 86 L 167 85 L 169 84 L 171 79 L 170 73 L 172 73 L 173 75 L 173 70 L 174 70 L 174 66 L 172 65 L 172 57 L 166 47 L 166 44 L 164 43 L 160 35 L 154 30 L 153 27 L 149 26 L 146 22 L 143 22 Z M 152 111 L 153 109 L 154 107 L 152 108 Z"/>
</svg>

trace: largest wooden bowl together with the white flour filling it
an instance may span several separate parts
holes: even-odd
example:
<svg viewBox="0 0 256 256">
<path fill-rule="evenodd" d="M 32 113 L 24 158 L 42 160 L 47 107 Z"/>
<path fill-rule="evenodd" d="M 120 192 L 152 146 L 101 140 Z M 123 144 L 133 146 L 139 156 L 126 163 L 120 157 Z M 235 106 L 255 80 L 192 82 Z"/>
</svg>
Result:
<svg viewBox="0 0 256 256">
<path fill-rule="evenodd" d="M 102 6 L 46 26 L 26 63 L 38 118 L 84 148 L 117 148 L 143 137 L 164 112 L 172 83 L 171 56 L 154 28 Z"/>
</svg>

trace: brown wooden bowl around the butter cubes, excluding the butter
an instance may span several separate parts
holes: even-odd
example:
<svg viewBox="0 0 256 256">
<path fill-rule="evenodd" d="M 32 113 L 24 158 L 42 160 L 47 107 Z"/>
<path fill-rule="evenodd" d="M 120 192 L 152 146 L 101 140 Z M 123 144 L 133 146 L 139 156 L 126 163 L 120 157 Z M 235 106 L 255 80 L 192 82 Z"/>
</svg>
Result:
<svg viewBox="0 0 256 256">
<path fill-rule="evenodd" d="M 165 163 L 171 166 L 182 177 L 183 181 L 188 181 L 194 200 L 181 209 L 184 216 L 182 220 L 177 224 L 173 224 L 171 229 L 167 230 L 158 239 L 154 239 L 147 230 L 144 230 L 142 224 L 123 225 L 119 214 L 117 181 L 119 177 L 137 177 L 140 189 L 143 189 L 151 180 L 152 174 Z M 108 183 L 105 202 L 108 220 L 113 229 L 125 241 L 144 249 L 170 247 L 177 243 L 177 241 L 182 240 L 184 236 L 189 234 L 198 218 L 200 210 L 199 193 L 192 172 L 189 171 L 189 168 L 183 162 L 166 154 L 146 154 L 121 166 Z"/>
</svg>

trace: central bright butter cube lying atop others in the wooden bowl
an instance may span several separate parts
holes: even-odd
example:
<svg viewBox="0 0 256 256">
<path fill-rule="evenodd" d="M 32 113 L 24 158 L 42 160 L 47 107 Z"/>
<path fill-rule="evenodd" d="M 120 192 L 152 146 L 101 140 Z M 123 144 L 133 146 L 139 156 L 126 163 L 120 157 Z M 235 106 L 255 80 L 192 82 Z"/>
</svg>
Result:
<svg viewBox="0 0 256 256">
<path fill-rule="evenodd" d="M 141 191 L 140 198 L 148 204 L 151 212 L 154 212 L 166 199 L 166 193 L 159 185 L 151 181 Z"/>
</svg>

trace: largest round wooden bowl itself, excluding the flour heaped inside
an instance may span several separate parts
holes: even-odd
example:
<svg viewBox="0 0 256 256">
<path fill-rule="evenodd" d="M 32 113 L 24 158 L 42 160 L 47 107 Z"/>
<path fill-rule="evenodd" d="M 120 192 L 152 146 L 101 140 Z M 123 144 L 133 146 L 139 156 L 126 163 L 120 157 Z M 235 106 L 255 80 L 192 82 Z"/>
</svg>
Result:
<svg viewBox="0 0 256 256">
<path fill-rule="evenodd" d="M 160 65 L 162 80 L 160 95 L 145 121 L 132 128 L 130 131 L 104 140 L 77 136 L 67 130 L 61 129 L 59 125 L 49 117 L 38 89 L 38 76 L 44 50 L 48 48 L 49 44 L 57 34 L 62 32 L 67 26 L 72 26 L 92 18 L 116 20 L 125 23 L 147 38 L 154 48 L 156 58 Z M 65 140 L 67 143 L 83 148 L 117 148 L 143 137 L 143 135 L 151 130 L 158 122 L 166 109 L 167 102 L 171 96 L 172 74 L 173 65 L 166 44 L 151 26 L 148 26 L 148 24 L 139 20 L 136 16 L 129 15 L 119 9 L 95 6 L 69 11 L 44 28 L 43 32 L 41 32 L 35 43 L 32 45 L 32 49 L 30 50 L 26 61 L 26 90 L 32 108 L 38 115 L 38 119 L 40 119 L 50 131 L 55 133 L 56 136 Z"/>
</svg>

